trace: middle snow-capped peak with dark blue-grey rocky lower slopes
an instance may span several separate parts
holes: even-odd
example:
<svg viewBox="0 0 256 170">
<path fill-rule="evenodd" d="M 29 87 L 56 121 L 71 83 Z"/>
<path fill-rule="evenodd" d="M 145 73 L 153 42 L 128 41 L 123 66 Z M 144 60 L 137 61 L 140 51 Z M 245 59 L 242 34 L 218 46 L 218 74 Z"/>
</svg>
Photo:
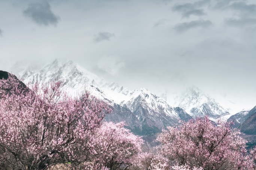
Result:
<svg viewBox="0 0 256 170">
<path fill-rule="evenodd" d="M 150 133 L 161 132 L 163 127 L 177 124 L 179 120 L 188 121 L 192 118 L 182 108 L 170 106 L 164 99 L 146 88 L 129 93 L 127 99 L 120 105 L 136 115 L 143 127 L 141 130 L 144 129 Z"/>
</svg>

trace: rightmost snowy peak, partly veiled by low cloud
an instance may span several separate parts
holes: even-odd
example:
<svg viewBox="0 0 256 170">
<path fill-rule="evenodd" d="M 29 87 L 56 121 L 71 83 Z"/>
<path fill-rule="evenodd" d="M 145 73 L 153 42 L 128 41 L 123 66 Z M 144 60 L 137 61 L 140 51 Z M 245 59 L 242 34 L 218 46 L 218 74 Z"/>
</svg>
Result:
<svg viewBox="0 0 256 170">
<path fill-rule="evenodd" d="M 229 109 L 224 108 L 209 95 L 195 86 L 187 88 L 181 95 L 174 98 L 174 106 L 183 108 L 192 117 L 208 115 L 211 120 L 231 115 Z"/>
</svg>

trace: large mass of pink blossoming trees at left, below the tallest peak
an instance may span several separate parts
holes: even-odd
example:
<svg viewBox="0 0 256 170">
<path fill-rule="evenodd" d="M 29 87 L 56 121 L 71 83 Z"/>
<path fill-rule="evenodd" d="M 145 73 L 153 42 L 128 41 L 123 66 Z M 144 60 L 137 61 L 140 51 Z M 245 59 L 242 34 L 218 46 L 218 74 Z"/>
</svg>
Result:
<svg viewBox="0 0 256 170">
<path fill-rule="evenodd" d="M 28 89 L 9 75 L 0 103 L 0 169 L 122 169 L 140 152 L 124 124 L 102 124 L 106 103 L 88 92 L 73 98 L 60 81 Z"/>
</svg>

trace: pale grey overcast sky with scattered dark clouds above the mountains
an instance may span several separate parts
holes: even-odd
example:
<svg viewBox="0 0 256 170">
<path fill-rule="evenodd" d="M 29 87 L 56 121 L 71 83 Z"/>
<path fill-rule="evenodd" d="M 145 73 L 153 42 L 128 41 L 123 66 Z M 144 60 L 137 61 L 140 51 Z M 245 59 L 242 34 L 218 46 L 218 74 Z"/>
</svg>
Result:
<svg viewBox="0 0 256 170">
<path fill-rule="evenodd" d="M 0 16 L 2 70 L 66 58 L 130 89 L 256 105 L 255 0 L 0 0 Z"/>
</svg>

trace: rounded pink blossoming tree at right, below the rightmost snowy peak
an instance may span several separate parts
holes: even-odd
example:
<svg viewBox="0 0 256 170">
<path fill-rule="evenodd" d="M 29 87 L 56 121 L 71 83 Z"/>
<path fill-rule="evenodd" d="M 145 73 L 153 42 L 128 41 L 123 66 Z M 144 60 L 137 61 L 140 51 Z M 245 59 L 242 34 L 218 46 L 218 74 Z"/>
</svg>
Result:
<svg viewBox="0 0 256 170">
<path fill-rule="evenodd" d="M 231 124 L 219 121 L 216 126 L 204 117 L 168 127 L 158 137 L 162 143 L 159 151 L 168 158 L 169 164 L 183 166 L 183 169 L 253 169 L 246 141 L 239 136 L 239 130 L 231 129 Z M 174 169 L 179 169 L 177 166 Z"/>
</svg>

